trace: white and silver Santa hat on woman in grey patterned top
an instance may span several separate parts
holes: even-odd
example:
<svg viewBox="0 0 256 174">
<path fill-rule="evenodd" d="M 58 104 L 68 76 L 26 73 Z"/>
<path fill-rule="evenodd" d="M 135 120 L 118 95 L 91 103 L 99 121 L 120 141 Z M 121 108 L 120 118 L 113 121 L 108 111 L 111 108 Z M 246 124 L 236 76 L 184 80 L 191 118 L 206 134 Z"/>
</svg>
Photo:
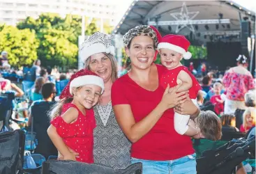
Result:
<svg viewBox="0 0 256 174">
<path fill-rule="evenodd" d="M 114 46 L 111 45 L 112 35 L 106 35 L 104 33 L 96 32 L 82 43 L 80 49 L 80 57 L 82 61 L 86 61 L 87 58 L 93 54 L 107 53 L 114 56 Z"/>
</svg>

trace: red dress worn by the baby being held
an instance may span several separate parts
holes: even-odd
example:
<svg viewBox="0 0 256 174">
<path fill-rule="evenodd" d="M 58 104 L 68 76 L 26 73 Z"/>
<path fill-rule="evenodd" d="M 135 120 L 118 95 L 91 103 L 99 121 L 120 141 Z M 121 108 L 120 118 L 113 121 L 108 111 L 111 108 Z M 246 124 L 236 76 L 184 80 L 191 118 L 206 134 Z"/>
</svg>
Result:
<svg viewBox="0 0 256 174">
<path fill-rule="evenodd" d="M 181 70 L 187 72 L 189 74 L 189 76 L 191 77 L 193 85 L 189 89 L 189 97 L 190 97 L 190 99 L 196 99 L 198 91 L 201 90 L 202 88 L 201 88 L 200 84 L 198 83 L 197 79 L 195 79 L 193 74 L 191 74 L 191 72 L 185 66 L 179 66 L 172 70 L 166 69 L 163 76 L 160 79 L 160 85 L 163 86 L 163 88 L 166 88 L 167 84 L 169 84 L 170 87 L 176 86 L 177 85 L 177 77 L 178 77 L 179 72 L 181 72 Z"/>
</svg>

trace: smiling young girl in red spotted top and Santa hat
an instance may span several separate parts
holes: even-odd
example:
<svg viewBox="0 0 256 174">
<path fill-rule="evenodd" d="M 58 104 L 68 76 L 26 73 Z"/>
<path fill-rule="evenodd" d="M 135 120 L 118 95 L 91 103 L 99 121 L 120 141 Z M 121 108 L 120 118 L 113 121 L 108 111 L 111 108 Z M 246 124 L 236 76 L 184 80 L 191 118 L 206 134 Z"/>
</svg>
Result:
<svg viewBox="0 0 256 174">
<path fill-rule="evenodd" d="M 93 163 L 93 129 L 96 121 L 91 108 L 97 104 L 103 90 L 103 79 L 89 70 L 80 70 L 71 76 L 61 92 L 61 101 L 52 111 L 52 125 L 47 133 L 64 160 Z M 67 147 L 63 147 L 57 134 L 80 157 L 75 157 Z"/>
</svg>

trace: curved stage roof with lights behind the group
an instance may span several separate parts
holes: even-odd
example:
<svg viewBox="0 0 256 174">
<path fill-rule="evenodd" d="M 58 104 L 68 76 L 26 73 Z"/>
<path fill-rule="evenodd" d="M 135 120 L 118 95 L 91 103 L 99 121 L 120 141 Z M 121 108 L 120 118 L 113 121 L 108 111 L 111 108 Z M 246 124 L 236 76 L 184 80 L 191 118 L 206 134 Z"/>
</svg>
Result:
<svg viewBox="0 0 256 174">
<path fill-rule="evenodd" d="M 134 26 L 158 24 L 162 35 L 193 35 L 203 41 L 211 35 L 239 39 L 244 20 L 250 21 L 251 31 L 255 31 L 255 13 L 233 1 L 133 1 L 113 33 L 123 35 Z"/>
</svg>

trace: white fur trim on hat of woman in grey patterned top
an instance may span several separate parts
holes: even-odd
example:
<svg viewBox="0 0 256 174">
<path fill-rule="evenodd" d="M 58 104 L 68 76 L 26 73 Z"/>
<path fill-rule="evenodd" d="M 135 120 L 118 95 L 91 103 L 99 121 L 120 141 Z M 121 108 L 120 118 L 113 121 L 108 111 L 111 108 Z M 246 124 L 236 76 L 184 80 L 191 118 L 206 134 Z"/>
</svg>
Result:
<svg viewBox="0 0 256 174">
<path fill-rule="evenodd" d="M 80 51 L 80 57 L 82 58 L 82 61 L 86 61 L 87 58 L 92 56 L 93 54 L 98 54 L 98 53 L 107 53 L 107 54 L 112 54 L 114 56 L 114 46 L 110 45 L 110 47 L 105 47 L 103 43 L 94 43 L 93 45 L 90 45 L 89 47 L 84 47 Z"/>
</svg>

